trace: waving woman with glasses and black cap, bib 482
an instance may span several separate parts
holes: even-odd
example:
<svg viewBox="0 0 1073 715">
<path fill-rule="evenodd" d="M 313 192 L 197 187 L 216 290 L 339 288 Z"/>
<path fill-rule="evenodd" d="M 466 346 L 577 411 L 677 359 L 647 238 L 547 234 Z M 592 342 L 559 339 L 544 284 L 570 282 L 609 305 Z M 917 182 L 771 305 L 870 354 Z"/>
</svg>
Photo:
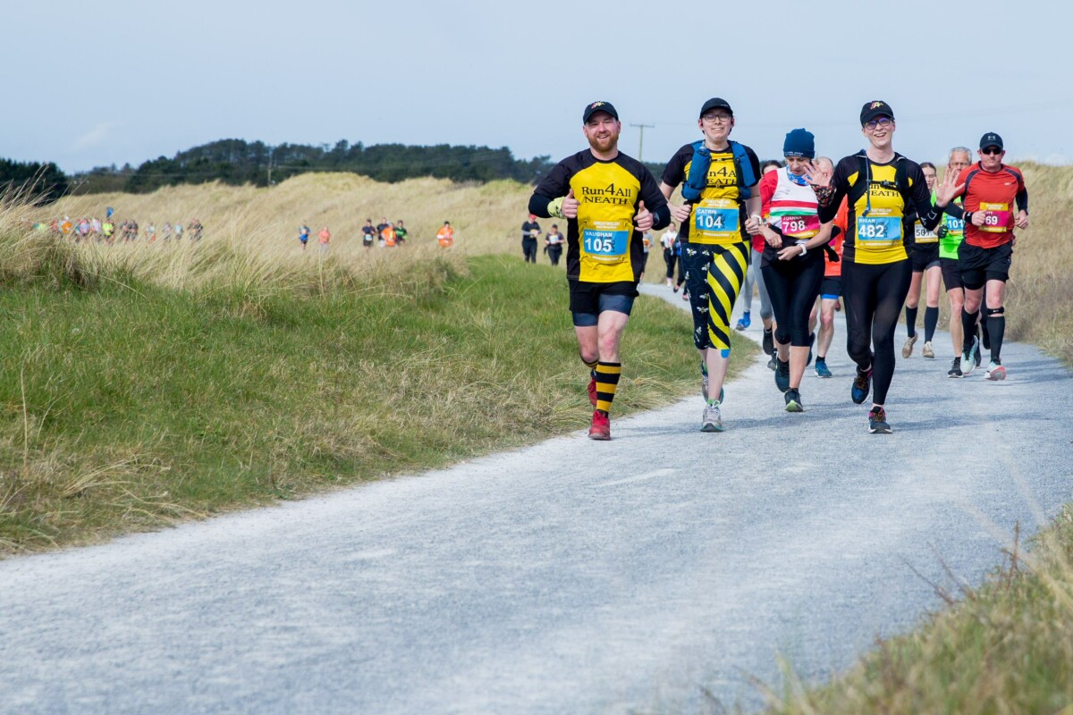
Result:
<svg viewBox="0 0 1073 715">
<path fill-rule="evenodd" d="M 861 109 L 861 133 L 868 148 L 846 157 L 827 181 L 810 177 L 823 222 L 818 238 L 827 241 L 842 197 L 849 198 L 842 244 L 842 297 L 846 299 L 848 352 L 857 366 L 850 396 L 862 404 L 872 391 L 868 431 L 888 434 L 886 393 L 894 377 L 894 330 L 909 293 L 912 266 L 906 252 L 911 209 L 935 230 L 954 193 L 951 176 L 943 179 L 932 206 L 924 174 L 894 150 L 894 110 L 886 102 L 868 102 Z M 818 241 L 819 242 L 819 241 Z M 874 383 L 874 384 L 873 384 Z"/>
</svg>

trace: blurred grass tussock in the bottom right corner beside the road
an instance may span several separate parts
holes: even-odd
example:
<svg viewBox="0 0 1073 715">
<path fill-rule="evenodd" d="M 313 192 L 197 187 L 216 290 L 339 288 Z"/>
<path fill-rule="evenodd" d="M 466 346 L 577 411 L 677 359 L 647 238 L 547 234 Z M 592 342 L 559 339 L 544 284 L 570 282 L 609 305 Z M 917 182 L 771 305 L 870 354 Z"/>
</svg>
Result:
<svg viewBox="0 0 1073 715">
<path fill-rule="evenodd" d="M 950 608 L 879 643 L 849 673 L 809 689 L 792 675 L 770 712 L 1067 713 L 1073 705 L 1073 506 L 1016 543 L 987 583 L 940 591 Z M 956 597 L 955 597 L 956 596 Z M 1063 710 L 1064 709 L 1064 710 Z"/>
</svg>

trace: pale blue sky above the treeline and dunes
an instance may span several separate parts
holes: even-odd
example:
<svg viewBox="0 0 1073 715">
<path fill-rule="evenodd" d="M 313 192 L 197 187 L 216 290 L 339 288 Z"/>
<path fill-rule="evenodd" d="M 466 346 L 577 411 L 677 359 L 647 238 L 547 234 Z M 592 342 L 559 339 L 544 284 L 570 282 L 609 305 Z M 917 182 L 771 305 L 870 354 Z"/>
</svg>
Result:
<svg viewBox="0 0 1073 715">
<path fill-rule="evenodd" d="M 1073 162 L 1065 3 L 4 0 L 0 157 L 68 172 L 219 138 L 583 148 L 613 102 L 621 149 L 666 161 L 719 95 L 761 157 L 795 126 L 861 148 L 873 99 L 895 148 L 941 160 L 997 131 L 1011 159 Z"/>
</svg>

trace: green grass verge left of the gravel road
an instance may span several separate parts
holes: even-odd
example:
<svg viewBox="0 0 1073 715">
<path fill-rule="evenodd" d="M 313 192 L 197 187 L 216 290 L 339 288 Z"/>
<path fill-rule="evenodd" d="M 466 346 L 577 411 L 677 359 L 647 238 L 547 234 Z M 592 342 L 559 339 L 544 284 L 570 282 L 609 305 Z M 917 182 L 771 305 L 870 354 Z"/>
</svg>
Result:
<svg viewBox="0 0 1073 715">
<path fill-rule="evenodd" d="M 442 279 L 325 296 L 0 287 L 0 553 L 587 427 L 561 271 L 485 256 Z M 685 312 L 637 301 L 615 415 L 696 390 L 690 334 Z M 743 341 L 735 363 L 753 351 Z"/>
</svg>

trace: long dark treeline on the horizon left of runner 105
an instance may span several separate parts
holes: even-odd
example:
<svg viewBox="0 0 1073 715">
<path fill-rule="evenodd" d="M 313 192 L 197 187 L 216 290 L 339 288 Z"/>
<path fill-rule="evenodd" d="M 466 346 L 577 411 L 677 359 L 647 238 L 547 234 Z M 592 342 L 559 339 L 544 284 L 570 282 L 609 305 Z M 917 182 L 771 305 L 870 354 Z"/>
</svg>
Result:
<svg viewBox="0 0 1073 715">
<path fill-rule="evenodd" d="M 263 141 L 221 139 L 180 151 L 172 159 L 160 157 L 147 161 L 137 168 L 97 167 L 75 175 L 75 180 L 79 193 L 146 193 L 161 187 L 206 181 L 266 187 L 307 172 L 353 172 L 385 182 L 431 176 L 453 181 L 514 179 L 534 183 L 552 166 L 548 157 L 519 160 L 505 147 L 401 144 L 366 147 L 361 143 L 351 145 L 346 139 L 334 147 L 269 146 Z"/>
</svg>

